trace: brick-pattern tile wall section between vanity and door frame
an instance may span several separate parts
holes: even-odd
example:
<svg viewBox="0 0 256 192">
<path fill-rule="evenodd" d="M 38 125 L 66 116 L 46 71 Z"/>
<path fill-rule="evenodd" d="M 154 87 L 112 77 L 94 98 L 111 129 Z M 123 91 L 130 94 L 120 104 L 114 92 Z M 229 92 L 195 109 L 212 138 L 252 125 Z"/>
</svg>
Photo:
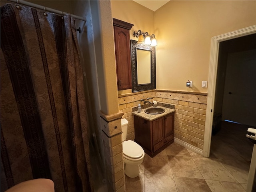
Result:
<svg viewBox="0 0 256 192">
<path fill-rule="evenodd" d="M 203 149 L 207 96 L 156 92 L 155 100 L 175 105 L 174 137 Z"/>
</svg>

